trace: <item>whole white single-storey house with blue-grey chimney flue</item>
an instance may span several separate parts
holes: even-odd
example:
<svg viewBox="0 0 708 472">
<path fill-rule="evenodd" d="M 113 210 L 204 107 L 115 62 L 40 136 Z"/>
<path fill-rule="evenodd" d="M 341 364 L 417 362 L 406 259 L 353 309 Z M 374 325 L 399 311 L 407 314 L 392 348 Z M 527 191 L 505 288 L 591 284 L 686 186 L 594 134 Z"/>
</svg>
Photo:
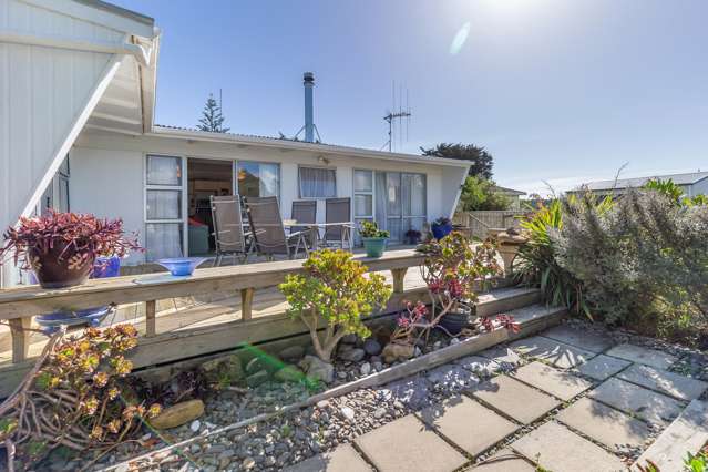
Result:
<svg viewBox="0 0 708 472">
<path fill-rule="evenodd" d="M 99 0 L 0 0 L 0 227 L 45 208 L 121 217 L 144 254 L 189 255 L 209 195 L 276 195 L 284 217 L 311 198 L 350 197 L 352 220 L 400 240 L 451 217 L 469 163 L 314 141 L 154 123 L 160 29 Z M 204 242 L 202 242 L 204 243 Z M 18 281 L 6 265 L 3 285 Z"/>
</svg>

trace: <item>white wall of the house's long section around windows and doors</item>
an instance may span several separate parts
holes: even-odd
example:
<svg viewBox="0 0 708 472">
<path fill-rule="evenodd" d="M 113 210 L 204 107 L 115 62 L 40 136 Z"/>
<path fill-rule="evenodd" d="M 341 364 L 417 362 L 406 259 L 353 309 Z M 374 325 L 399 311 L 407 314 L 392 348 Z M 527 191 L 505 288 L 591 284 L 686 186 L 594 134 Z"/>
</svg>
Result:
<svg viewBox="0 0 708 472">
<path fill-rule="evenodd" d="M 244 146 L 217 142 L 187 142 L 154 136 L 121 136 L 85 132 L 71 151 L 71 209 L 102 217 L 123 218 L 126 230 L 140 232 L 144 244 L 144 160 L 145 154 L 164 154 L 214 160 L 243 160 L 280 164 L 280 205 L 289 216 L 298 196 L 298 166 L 322 166 L 319 154 Z M 352 196 L 353 170 L 415 172 L 425 174 L 428 220 L 450 216 L 466 167 L 447 167 L 427 163 L 401 163 L 353 156 L 327 156 L 337 170 L 338 196 Z M 325 202 L 318 201 L 318 220 L 325 220 Z M 129 261 L 140 263 L 142 255 Z"/>
</svg>

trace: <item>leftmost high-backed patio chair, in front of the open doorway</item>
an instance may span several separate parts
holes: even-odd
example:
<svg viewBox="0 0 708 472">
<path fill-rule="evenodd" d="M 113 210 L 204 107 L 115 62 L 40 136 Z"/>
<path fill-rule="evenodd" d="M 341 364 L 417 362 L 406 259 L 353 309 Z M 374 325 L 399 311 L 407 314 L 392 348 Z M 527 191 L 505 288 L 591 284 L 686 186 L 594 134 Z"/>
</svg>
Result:
<svg viewBox="0 0 708 472">
<path fill-rule="evenodd" d="M 219 266 L 225 256 L 232 256 L 234 260 L 243 257 L 242 263 L 245 264 L 253 252 L 253 242 L 250 233 L 244 232 L 238 195 L 212 195 L 209 199 L 216 245 L 214 267 Z"/>
</svg>

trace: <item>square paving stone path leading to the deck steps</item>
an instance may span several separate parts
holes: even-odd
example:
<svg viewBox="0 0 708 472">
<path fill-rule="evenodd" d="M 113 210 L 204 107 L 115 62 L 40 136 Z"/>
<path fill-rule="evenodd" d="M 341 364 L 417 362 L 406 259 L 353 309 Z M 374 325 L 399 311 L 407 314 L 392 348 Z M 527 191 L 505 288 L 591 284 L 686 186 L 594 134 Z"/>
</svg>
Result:
<svg viewBox="0 0 708 472">
<path fill-rule="evenodd" d="M 382 394 L 415 411 L 288 471 L 612 472 L 635 470 L 637 458 L 675 465 L 686 451 L 671 438 L 694 449 L 708 441 L 708 382 L 669 372 L 676 361 L 562 325 L 387 386 Z M 431 389 L 448 399 L 430 406 Z"/>
</svg>

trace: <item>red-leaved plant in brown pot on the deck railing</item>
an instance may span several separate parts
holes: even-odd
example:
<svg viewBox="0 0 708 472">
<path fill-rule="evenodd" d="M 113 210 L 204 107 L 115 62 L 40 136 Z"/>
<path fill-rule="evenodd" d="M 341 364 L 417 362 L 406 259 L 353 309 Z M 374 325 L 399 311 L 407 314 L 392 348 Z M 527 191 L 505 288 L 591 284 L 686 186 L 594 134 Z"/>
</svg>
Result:
<svg viewBox="0 0 708 472">
<path fill-rule="evenodd" d="M 123 257 L 131 249 L 141 249 L 135 235 L 125 236 L 122 219 L 53 211 L 20 218 L 4 238 L 0 261 L 12 252 L 14 264 L 21 260 L 21 268 L 31 268 L 43 288 L 83 284 L 94 270 L 98 256 Z"/>
</svg>

